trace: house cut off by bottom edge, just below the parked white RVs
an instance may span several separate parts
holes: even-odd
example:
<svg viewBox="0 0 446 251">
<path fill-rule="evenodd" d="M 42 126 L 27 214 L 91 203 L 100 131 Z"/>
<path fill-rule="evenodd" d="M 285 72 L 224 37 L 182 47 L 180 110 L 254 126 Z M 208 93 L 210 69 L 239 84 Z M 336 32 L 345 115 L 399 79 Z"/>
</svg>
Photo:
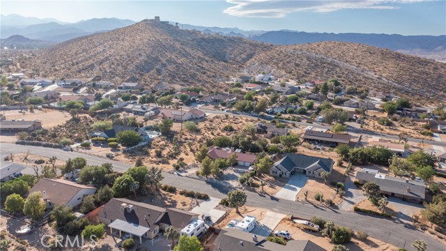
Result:
<svg viewBox="0 0 446 251">
<path fill-rule="evenodd" d="M 308 240 L 291 240 L 286 245 L 266 241 L 265 236 L 256 236 L 238 229 L 220 231 L 214 241 L 215 251 L 323 251 L 319 245 Z"/>
</svg>

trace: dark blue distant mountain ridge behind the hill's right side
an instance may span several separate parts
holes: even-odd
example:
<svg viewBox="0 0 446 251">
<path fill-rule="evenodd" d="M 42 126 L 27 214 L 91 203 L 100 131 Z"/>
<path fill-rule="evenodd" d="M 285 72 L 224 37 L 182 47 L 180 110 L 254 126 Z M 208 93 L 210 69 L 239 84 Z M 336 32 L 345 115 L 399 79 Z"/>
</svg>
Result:
<svg viewBox="0 0 446 251">
<path fill-rule="evenodd" d="M 401 36 L 397 34 L 364 33 L 307 33 L 298 31 L 269 31 L 252 39 L 273 45 L 301 45 L 323 41 L 362 43 L 406 54 L 423 56 L 438 54 L 446 59 L 446 36 Z"/>
</svg>

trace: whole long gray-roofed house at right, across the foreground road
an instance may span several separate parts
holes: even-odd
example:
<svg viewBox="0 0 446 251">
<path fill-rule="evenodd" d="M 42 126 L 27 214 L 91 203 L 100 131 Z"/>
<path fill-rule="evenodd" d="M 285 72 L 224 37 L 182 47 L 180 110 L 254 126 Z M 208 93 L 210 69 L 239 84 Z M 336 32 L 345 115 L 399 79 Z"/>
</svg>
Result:
<svg viewBox="0 0 446 251">
<path fill-rule="evenodd" d="M 378 170 L 363 168 L 356 173 L 359 183 L 374 181 L 380 187 L 381 193 L 403 200 L 421 202 L 425 198 L 424 182 L 410 181 L 407 178 L 392 177 L 380 174 Z"/>
</svg>

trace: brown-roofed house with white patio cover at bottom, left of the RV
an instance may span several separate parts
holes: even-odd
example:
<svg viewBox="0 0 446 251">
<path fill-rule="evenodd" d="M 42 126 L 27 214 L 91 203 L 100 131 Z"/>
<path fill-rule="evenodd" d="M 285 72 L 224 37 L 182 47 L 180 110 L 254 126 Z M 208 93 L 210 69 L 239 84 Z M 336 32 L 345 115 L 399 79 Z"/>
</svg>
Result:
<svg viewBox="0 0 446 251">
<path fill-rule="evenodd" d="M 110 199 L 98 212 L 98 221 L 107 225 L 112 233 L 117 230 L 120 237 L 123 234 L 137 236 L 140 244 L 142 237 L 153 239 L 169 226 L 181 231 L 198 218 L 197 213 L 123 198 Z"/>
</svg>

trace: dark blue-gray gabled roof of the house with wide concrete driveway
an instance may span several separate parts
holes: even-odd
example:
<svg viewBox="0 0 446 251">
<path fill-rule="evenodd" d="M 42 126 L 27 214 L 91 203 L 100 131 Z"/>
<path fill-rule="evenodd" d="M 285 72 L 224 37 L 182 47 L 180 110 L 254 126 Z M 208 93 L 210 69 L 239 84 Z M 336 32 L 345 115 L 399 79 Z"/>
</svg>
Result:
<svg viewBox="0 0 446 251">
<path fill-rule="evenodd" d="M 286 153 L 282 160 L 275 162 L 274 166 L 282 166 L 288 172 L 293 171 L 294 167 L 307 169 L 313 167 L 314 165 L 320 166 L 324 171 L 330 172 L 333 160 L 330 158 L 319 158 L 314 156 Z"/>
</svg>

